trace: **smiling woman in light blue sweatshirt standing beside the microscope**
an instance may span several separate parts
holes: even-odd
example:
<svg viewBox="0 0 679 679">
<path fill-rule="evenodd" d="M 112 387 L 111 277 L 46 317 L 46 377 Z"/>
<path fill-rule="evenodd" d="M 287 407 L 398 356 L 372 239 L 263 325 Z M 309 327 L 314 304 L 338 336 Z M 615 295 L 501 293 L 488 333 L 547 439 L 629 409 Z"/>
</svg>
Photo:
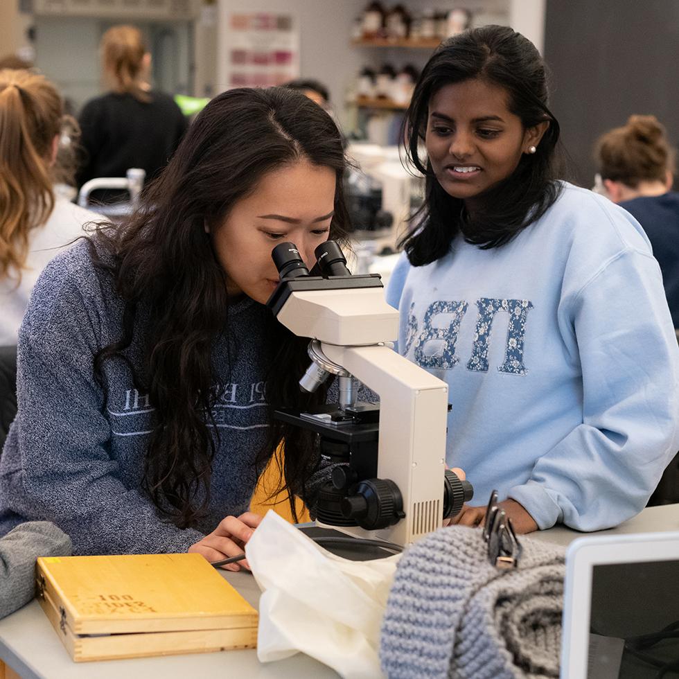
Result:
<svg viewBox="0 0 679 679">
<path fill-rule="evenodd" d="M 426 197 L 387 291 L 399 351 L 450 387 L 448 465 L 479 504 L 497 488 L 520 532 L 619 524 L 679 448 L 660 268 L 631 215 L 558 181 L 558 136 L 531 42 L 443 42 L 407 112 Z"/>
</svg>

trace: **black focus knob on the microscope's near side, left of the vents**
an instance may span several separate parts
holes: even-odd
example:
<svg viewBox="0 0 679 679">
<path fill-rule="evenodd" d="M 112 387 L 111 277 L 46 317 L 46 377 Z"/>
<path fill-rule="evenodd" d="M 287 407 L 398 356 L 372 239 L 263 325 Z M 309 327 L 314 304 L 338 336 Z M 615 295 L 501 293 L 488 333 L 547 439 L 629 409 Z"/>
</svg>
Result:
<svg viewBox="0 0 679 679">
<path fill-rule="evenodd" d="M 344 497 L 340 509 L 344 518 L 355 520 L 367 530 L 388 528 L 405 517 L 403 497 L 389 479 L 366 479 Z"/>
</svg>

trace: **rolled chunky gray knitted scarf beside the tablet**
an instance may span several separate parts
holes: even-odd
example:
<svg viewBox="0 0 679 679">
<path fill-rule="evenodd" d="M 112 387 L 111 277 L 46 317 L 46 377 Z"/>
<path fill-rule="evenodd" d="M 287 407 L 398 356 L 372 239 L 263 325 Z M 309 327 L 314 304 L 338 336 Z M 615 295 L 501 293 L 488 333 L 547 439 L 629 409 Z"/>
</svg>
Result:
<svg viewBox="0 0 679 679">
<path fill-rule="evenodd" d="M 480 529 L 439 529 L 405 552 L 382 622 L 389 679 L 558 678 L 565 549 L 520 541 L 505 571 Z"/>
</svg>

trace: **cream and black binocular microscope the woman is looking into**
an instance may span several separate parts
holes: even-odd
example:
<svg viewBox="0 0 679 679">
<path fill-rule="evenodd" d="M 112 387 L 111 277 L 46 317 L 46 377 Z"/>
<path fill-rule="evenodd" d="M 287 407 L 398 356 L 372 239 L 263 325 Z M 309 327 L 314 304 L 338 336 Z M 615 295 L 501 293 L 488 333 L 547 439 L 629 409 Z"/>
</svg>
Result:
<svg viewBox="0 0 679 679">
<path fill-rule="evenodd" d="M 319 492 L 319 526 L 409 545 L 473 496 L 446 469 L 448 385 L 394 351 L 398 311 L 385 301 L 379 274 L 351 275 L 332 240 L 315 255 L 309 272 L 293 243 L 273 249 L 280 282 L 267 306 L 310 338 L 300 388 L 313 392 L 334 375 L 338 403 L 274 417 L 318 434 L 321 457 L 337 464 Z M 379 405 L 358 400 L 360 383 Z"/>
</svg>

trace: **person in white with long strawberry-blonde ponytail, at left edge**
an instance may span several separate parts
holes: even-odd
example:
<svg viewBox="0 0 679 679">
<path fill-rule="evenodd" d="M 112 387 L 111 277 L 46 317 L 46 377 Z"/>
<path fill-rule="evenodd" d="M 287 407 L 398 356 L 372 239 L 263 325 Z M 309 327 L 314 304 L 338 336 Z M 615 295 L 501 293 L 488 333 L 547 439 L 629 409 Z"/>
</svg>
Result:
<svg viewBox="0 0 679 679">
<path fill-rule="evenodd" d="M 0 71 L 0 346 L 17 343 L 35 281 L 64 246 L 98 215 L 71 204 L 54 184 L 60 137 L 76 122 L 44 76 Z"/>
</svg>

